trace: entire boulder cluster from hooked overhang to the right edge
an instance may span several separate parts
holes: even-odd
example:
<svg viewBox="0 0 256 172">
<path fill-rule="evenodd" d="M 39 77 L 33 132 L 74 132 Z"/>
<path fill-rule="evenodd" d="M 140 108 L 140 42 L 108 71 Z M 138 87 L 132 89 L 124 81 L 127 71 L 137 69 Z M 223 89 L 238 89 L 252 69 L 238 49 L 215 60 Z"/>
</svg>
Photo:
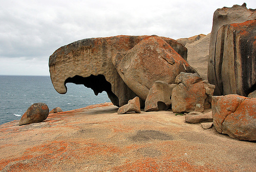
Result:
<svg viewBox="0 0 256 172">
<path fill-rule="evenodd" d="M 255 19 L 255 10 L 234 5 L 215 11 L 208 35 L 78 40 L 50 56 L 51 80 L 61 94 L 67 82 L 83 84 L 95 95 L 105 91 L 120 107 L 118 114 L 140 113 L 143 107 L 188 113 L 186 122 L 256 140 Z"/>
</svg>

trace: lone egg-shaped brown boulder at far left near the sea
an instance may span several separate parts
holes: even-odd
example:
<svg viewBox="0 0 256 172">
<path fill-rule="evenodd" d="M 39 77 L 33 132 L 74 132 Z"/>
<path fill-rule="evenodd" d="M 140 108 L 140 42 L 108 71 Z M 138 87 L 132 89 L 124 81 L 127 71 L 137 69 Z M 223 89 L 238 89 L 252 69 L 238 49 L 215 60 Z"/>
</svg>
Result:
<svg viewBox="0 0 256 172">
<path fill-rule="evenodd" d="M 49 108 L 45 103 L 34 103 L 23 114 L 19 120 L 19 125 L 42 122 L 49 115 Z"/>
</svg>

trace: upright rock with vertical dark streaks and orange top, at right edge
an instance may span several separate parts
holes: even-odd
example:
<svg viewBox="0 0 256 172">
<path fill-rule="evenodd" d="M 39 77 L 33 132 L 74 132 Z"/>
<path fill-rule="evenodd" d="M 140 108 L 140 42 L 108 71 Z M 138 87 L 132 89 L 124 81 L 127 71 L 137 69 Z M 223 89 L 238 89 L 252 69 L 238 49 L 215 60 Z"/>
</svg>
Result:
<svg viewBox="0 0 256 172">
<path fill-rule="evenodd" d="M 256 85 L 256 20 L 224 25 L 216 40 L 218 87 L 222 95 L 247 96 Z"/>
</svg>

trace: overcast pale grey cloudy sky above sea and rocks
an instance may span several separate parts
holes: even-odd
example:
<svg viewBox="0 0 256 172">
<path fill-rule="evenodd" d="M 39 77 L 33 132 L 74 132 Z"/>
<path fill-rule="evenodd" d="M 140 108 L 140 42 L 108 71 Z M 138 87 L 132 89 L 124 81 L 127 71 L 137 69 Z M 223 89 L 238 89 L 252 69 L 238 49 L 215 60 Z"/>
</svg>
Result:
<svg viewBox="0 0 256 172">
<path fill-rule="evenodd" d="M 255 0 L 0 0 L 0 75 L 50 75 L 48 60 L 76 40 L 208 34 L 214 11 Z"/>
</svg>

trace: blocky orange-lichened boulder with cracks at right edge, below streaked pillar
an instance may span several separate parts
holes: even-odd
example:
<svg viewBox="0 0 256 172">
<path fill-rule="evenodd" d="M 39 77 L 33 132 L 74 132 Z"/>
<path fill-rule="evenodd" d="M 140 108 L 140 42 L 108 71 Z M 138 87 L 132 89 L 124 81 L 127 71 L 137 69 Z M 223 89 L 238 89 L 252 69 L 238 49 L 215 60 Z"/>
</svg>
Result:
<svg viewBox="0 0 256 172">
<path fill-rule="evenodd" d="M 212 117 L 219 133 L 239 140 L 256 140 L 256 98 L 213 96 Z"/>
</svg>

